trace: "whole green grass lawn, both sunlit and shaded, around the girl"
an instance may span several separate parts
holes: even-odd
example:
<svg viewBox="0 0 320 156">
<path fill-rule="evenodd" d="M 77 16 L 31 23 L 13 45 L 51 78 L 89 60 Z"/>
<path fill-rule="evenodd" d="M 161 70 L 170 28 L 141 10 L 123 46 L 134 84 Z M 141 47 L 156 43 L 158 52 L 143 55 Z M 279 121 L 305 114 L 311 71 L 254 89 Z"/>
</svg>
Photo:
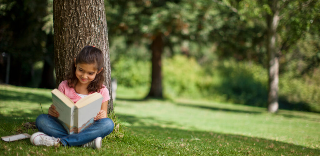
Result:
<svg viewBox="0 0 320 156">
<path fill-rule="evenodd" d="M 47 113 L 51 90 L 0 85 L 0 135 Z M 118 87 L 114 103 L 126 127 L 123 138 L 106 137 L 103 148 L 37 147 L 28 139 L 0 141 L 9 155 L 319 155 L 320 114 L 176 99 L 140 100 L 147 88 Z M 22 128 L 29 134 L 35 130 Z"/>
</svg>

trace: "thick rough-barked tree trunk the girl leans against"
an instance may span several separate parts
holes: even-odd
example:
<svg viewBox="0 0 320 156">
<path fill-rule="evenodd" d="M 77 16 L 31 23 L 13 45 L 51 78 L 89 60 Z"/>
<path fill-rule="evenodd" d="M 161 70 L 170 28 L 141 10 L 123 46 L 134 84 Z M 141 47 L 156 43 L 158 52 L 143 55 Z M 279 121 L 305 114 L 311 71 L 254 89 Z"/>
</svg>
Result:
<svg viewBox="0 0 320 156">
<path fill-rule="evenodd" d="M 64 80 L 70 62 L 85 45 L 94 45 L 104 53 L 105 83 L 113 110 L 111 68 L 107 21 L 103 0 L 53 1 L 54 54 L 56 87 Z"/>
</svg>

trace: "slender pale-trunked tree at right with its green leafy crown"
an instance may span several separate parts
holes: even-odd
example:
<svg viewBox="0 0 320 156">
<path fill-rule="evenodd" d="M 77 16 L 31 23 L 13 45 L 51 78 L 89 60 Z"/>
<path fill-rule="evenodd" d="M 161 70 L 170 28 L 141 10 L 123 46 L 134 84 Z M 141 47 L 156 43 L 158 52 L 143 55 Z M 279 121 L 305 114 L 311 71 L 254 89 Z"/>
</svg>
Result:
<svg viewBox="0 0 320 156">
<path fill-rule="evenodd" d="M 268 69 L 268 111 L 276 112 L 278 104 L 279 58 L 284 57 L 296 42 L 310 30 L 310 21 L 318 18 L 317 1 L 251 1 L 234 4 L 239 16 L 248 22 L 262 24 L 266 40 L 266 64 Z M 315 24 L 313 24 L 315 25 Z M 314 30 L 313 30 L 314 31 Z"/>
</svg>

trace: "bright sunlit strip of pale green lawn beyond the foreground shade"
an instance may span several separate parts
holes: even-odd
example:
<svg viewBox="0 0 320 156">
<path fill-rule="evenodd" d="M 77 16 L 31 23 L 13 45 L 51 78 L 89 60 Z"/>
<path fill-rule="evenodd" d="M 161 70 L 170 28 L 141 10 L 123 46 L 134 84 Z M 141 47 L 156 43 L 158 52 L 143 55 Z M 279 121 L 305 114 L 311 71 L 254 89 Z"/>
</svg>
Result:
<svg viewBox="0 0 320 156">
<path fill-rule="evenodd" d="M 270 114 L 265 108 L 214 102 L 178 100 L 125 101 L 116 104 L 116 114 L 127 127 L 176 128 L 188 131 L 217 132 L 249 137 L 261 137 L 304 146 L 319 146 L 317 120 L 319 116 L 306 113 L 306 118 L 289 118 L 280 111 Z M 294 111 L 292 111 L 294 113 Z M 308 119 L 309 114 L 310 120 Z M 304 144 L 304 142 L 309 142 Z"/>
</svg>

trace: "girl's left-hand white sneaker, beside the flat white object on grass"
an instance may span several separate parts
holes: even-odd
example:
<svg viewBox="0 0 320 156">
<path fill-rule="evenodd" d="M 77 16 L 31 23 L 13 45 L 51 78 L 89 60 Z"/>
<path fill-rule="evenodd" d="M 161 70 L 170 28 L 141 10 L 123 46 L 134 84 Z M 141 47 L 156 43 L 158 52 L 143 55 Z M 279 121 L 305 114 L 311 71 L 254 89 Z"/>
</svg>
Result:
<svg viewBox="0 0 320 156">
<path fill-rule="evenodd" d="M 46 135 L 42 132 L 36 132 L 30 137 L 30 142 L 33 145 L 45 145 L 45 146 L 55 146 L 60 142 L 60 138 L 55 138 L 53 136 Z"/>
</svg>

